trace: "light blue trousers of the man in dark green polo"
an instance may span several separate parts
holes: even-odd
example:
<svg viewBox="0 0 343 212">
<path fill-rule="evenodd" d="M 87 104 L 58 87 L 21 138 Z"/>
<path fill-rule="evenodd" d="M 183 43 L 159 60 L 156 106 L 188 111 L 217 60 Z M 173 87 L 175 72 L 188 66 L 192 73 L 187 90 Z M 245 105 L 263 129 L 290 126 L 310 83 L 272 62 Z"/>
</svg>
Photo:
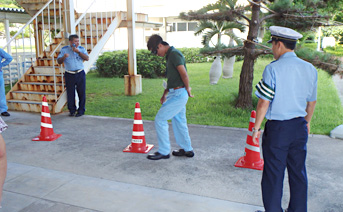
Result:
<svg viewBox="0 0 343 212">
<path fill-rule="evenodd" d="M 187 127 L 187 101 L 188 93 L 185 88 L 177 90 L 169 89 L 167 100 L 162 104 L 155 117 L 155 128 L 159 145 L 158 152 L 162 155 L 168 155 L 170 153 L 168 131 L 168 120 L 170 119 L 172 120 L 176 143 L 185 151 L 193 150 Z"/>
</svg>

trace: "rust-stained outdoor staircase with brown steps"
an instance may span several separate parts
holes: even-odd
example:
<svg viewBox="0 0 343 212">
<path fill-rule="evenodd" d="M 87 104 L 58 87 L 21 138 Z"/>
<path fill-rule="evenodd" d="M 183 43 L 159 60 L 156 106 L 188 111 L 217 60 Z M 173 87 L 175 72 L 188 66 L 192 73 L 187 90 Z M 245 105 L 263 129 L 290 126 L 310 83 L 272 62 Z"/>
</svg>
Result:
<svg viewBox="0 0 343 212">
<path fill-rule="evenodd" d="M 31 16 L 34 16 L 37 11 L 45 5 L 48 0 L 17 0 L 17 2 L 25 8 Z M 62 6 L 62 8 L 60 8 Z M 55 21 L 50 20 L 53 16 L 60 16 L 63 13 L 62 4 L 51 3 L 49 12 L 42 12 L 43 17 L 34 23 L 35 36 L 36 31 L 49 29 L 50 31 L 58 31 L 57 35 L 51 39 L 51 43 L 45 46 L 42 42 L 39 47 L 36 46 L 36 59 L 26 73 L 18 80 L 18 82 L 7 93 L 7 105 L 9 110 L 41 112 L 41 103 L 43 96 L 46 96 L 50 112 L 52 114 L 62 112 L 66 104 L 66 89 L 64 83 L 64 68 L 57 63 L 57 56 L 60 49 L 68 45 L 69 42 L 64 38 L 64 29 L 55 29 Z M 57 10 L 54 8 L 58 8 Z M 55 13 L 58 11 L 58 13 Z M 90 54 L 93 48 L 97 45 L 108 27 L 112 23 L 116 13 L 92 13 L 86 14 L 85 19 L 81 20 L 76 26 L 76 34 L 79 34 L 80 45 L 85 47 Z M 49 16 L 48 16 L 49 15 Z M 75 19 L 78 19 L 81 14 L 75 12 Z M 107 18 L 106 18 L 107 17 Z M 112 17 L 112 19 L 111 19 Z M 91 21 L 90 21 L 91 20 Z M 49 28 L 50 25 L 50 28 Z M 38 29 L 37 27 L 38 26 Z M 57 26 L 59 26 L 57 24 Z M 92 30 L 91 30 L 92 29 Z M 44 39 L 41 39 L 44 40 Z M 51 55 L 54 52 L 53 55 Z M 88 71 L 88 70 L 87 70 Z M 86 72 L 87 72 L 86 71 Z"/>
</svg>

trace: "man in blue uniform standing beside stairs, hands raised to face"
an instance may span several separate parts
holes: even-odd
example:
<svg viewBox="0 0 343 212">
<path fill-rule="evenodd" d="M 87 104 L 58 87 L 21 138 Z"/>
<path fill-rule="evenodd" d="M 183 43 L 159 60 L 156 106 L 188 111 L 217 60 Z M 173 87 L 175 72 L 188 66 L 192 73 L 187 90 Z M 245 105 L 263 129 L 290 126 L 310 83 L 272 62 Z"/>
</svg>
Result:
<svg viewBox="0 0 343 212">
<path fill-rule="evenodd" d="M 80 40 L 77 35 L 70 35 L 69 43 L 69 46 L 61 49 L 57 62 L 59 64 L 64 62 L 69 116 L 80 117 L 85 114 L 86 110 L 86 73 L 83 70 L 83 61 L 88 61 L 89 56 L 87 50 L 79 46 Z M 79 96 L 79 108 L 76 115 L 75 86 Z"/>
</svg>

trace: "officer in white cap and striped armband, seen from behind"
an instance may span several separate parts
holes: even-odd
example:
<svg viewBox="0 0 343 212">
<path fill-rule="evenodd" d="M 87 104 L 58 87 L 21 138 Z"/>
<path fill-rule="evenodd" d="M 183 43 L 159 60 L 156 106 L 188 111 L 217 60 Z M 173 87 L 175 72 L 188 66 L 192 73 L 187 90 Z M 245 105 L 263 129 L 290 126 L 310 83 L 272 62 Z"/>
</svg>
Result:
<svg viewBox="0 0 343 212">
<path fill-rule="evenodd" d="M 317 70 L 294 53 L 302 35 L 292 29 L 271 26 L 276 59 L 266 66 L 256 85 L 259 98 L 253 142 L 266 117 L 262 137 L 264 169 L 262 199 L 266 212 L 282 212 L 284 173 L 287 167 L 290 201 L 287 212 L 307 211 L 306 143 L 317 99 Z"/>
</svg>

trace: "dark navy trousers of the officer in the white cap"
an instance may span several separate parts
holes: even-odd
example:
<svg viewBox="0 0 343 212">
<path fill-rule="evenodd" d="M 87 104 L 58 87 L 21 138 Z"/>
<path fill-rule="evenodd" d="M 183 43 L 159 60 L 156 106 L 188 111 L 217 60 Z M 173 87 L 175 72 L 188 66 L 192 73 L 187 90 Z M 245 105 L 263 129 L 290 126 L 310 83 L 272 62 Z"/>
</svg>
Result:
<svg viewBox="0 0 343 212">
<path fill-rule="evenodd" d="M 306 124 L 303 117 L 266 122 L 262 137 L 264 169 L 261 183 L 266 212 L 282 212 L 281 198 L 286 167 L 290 186 L 288 212 L 307 211 Z"/>
</svg>

